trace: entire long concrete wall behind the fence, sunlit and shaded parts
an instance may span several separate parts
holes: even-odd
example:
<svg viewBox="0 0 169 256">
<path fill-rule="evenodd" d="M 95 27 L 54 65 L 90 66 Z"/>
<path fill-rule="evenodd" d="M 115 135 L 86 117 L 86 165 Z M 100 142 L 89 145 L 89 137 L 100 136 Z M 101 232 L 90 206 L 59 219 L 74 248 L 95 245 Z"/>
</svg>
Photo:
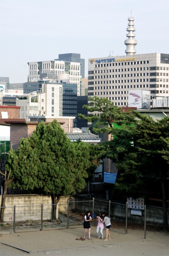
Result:
<svg viewBox="0 0 169 256">
<path fill-rule="evenodd" d="M 0 203 L 2 196 L 0 195 Z M 56 218 L 58 212 L 67 213 L 69 210 L 78 209 L 83 214 L 87 211 L 92 213 L 93 198 L 84 196 L 62 196 L 58 203 Z M 38 220 L 41 219 L 41 204 L 43 204 L 43 220 L 52 218 L 52 200 L 51 196 L 44 195 L 8 195 L 6 197 L 6 208 L 4 213 L 4 222 L 13 221 L 14 205 L 16 212 L 16 221 Z M 169 209 L 168 223 L 169 223 Z M 94 199 L 94 213 L 98 214 L 100 211 L 109 212 L 109 201 L 104 199 Z M 128 222 L 144 223 L 145 211 L 142 211 L 142 216 L 131 215 L 128 209 Z M 111 219 L 118 219 L 119 221 L 126 221 L 126 204 L 110 202 L 110 217 Z M 146 207 L 146 224 L 163 226 L 163 208 L 161 207 Z"/>
</svg>

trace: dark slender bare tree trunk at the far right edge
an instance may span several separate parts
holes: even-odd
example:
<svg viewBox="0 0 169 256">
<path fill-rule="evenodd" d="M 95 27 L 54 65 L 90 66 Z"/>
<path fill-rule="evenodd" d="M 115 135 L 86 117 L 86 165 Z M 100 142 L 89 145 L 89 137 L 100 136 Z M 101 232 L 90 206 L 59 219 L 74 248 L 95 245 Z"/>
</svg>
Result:
<svg viewBox="0 0 169 256">
<path fill-rule="evenodd" d="M 164 183 L 164 178 L 162 177 L 161 169 L 159 170 L 159 178 L 160 178 L 162 193 L 163 193 L 163 231 L 168 231 L 167 199 L 166 199 L 165 183 Z"/>
</svg>

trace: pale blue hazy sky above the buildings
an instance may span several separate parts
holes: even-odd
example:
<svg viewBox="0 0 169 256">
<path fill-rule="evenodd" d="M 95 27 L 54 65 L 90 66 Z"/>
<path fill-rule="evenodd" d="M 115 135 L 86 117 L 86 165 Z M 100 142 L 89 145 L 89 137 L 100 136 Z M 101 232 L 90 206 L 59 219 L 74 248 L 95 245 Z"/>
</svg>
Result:
<svg viewBox="0 0 169 256">
<path fill-rule="evenodd" d="M 0 76 L 27 82 L 27 62 L 58 54 L 85 59 L 126 55 L 134 17 L 136 54 L 169 54 L 168 0 L 0 0 Z"/>
</svg>

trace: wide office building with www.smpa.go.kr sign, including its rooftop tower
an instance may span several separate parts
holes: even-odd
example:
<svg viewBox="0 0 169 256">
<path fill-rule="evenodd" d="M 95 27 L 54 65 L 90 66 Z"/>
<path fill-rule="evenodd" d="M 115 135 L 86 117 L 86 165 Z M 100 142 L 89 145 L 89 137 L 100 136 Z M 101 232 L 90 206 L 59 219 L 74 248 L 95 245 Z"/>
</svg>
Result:
<svg viewBox="0 0 169 256">
<path fill-rule="evenodd" d="M 89 59 L 88 96 L 106 97 L 119 107 L 128 105 L 129 90 L 149 90 L 151 98 L 169 96 L 169 54 L 136 55 L 134 18 L 128 20 L 127 56 Z"/>
</svg>

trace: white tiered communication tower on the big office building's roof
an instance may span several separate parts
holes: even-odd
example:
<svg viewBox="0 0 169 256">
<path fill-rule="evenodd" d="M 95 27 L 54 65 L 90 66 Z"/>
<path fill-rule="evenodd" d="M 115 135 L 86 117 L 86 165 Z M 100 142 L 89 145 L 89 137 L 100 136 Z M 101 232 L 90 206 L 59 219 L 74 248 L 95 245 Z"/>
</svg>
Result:
<svg viewBox="0 0 169 256">
<path fill-rule="evenodd" d="M 128 21 L 129 21 L 128 28 L 127 28 L 128 39 L 125 40 L 125 44 L 127 46 L 125 53 L 126 55 L 134 55 L 136 53 L 135 45 L 137 44 L 137 40 L 134 39 L 135 34 L 133 33 L 133 31 L 135 31 L 134 23 L 133 23 L 134 18 L 128 18 Z"/>
</svg>

